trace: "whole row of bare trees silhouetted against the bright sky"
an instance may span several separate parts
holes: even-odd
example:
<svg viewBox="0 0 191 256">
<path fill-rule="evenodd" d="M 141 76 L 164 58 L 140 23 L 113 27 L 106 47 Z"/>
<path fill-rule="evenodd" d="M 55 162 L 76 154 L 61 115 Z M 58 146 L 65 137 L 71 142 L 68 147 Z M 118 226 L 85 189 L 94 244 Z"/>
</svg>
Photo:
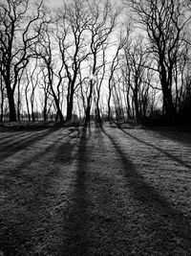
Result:
<svg viewBox="0 0 191 256">
<path fill-rule="evenodd" d="M 61 122 L 173 122 L 191 110 L 190 6 L 185 0 L 0 4 L 0 119 L 42 112 Z M 124 22 L 124 20 L 126 20 Z"/>
</svg>

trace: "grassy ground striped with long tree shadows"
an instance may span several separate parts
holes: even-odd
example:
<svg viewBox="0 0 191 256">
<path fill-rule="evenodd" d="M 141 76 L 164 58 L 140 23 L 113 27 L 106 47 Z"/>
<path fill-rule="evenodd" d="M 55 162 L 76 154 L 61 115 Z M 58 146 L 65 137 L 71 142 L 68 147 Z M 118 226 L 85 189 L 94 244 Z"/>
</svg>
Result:
<svg viewBox="0 0 191 256">
<path fill-rule="evenodd" d="M 0 255 L 191 255 L 191 134 L 0 131 Z"/>
</svg>

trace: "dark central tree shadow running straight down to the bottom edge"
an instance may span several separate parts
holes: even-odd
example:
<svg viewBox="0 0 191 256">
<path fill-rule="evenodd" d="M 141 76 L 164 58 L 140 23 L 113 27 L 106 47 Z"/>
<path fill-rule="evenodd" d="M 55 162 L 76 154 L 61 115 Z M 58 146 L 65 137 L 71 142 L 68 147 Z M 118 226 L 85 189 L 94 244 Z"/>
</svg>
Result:
<svg viewBox="0 0 191 256">
<path fill-rule="evenodd" d="M 65 227 L 65 241 L 63 242 L 62 254 L 58 255 L 89 255 L 87 237 L 87 208 L 89 198 L 87 194 L 87 139 L 88 129 L 82 129 L 76 154 L 76 172 L 74 180 L 73 202 L 68 209 L 68 220 Z M 66 217 L 64 217 L 66 218 Z M 67 233 L 66 233 L 67 232 Z"/>
</svg>

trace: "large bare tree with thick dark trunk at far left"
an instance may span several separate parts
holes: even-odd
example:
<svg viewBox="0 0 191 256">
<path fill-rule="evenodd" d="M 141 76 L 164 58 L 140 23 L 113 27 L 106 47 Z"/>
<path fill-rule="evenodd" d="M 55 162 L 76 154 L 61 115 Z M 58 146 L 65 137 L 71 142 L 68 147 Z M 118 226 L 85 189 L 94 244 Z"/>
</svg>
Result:
<svg viewBox="0 0 191 256">
<path fill-rule="evenodd" d="M 40 34 L 42 9 L 42 1 L 33 5 L 31 0 L 5 0 L 0 4 L 0 74 L 7 89 L 11 121 L 16 121 L 15 88 L 29 62 L 29 49 Z"/>
</svg>

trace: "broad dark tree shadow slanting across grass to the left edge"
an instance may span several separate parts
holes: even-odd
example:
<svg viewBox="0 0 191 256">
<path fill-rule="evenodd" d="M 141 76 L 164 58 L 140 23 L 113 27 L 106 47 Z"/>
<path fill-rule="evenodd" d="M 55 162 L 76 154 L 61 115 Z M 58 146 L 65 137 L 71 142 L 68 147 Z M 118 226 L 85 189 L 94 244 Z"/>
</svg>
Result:
<svg viewBox="0 0 191 256">
<path fill-rule="evenodd" d="M 32 144 L 34 144 L 35 142 L 40 141 L 43 138 L 45 138 L 46 136 L 48 136 L 49 134 L 55 132 L 57 129 L 59 129 L 59 128 L 49 128 L 49 129 L 46 129 L 45 131 L 42 131 L 38 134 L 33 133 L 32 135 L 28 136 L 27 138 L 20 139 L 20 141 L 16 144 L 14 142 L 12 142 L 11 145 L 1 147 L 0 148 L 0 161 L 5 160 L 7 157 L 10 157 L 11 155 L 13 155 L 14 153 L 16 153 L 18 151 L 25 150 L 27 147 L 32 146 Z"/>
</svg>

